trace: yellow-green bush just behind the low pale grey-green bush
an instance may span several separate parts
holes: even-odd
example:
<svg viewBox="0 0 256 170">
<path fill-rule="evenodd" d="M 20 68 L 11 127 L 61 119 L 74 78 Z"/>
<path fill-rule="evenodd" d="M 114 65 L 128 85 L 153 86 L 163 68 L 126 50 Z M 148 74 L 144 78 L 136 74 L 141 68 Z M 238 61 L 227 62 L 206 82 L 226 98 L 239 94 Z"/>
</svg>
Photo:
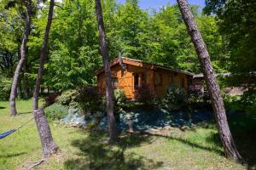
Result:
<svg viewBox="0 0 256 170">
<path fill-rule="evenodd" d="M 74 102 L 78 93 L 76 90 L 67 90 L 55 99 L 55 102 L 59 105 L 76 106 Z"/>
</svg>

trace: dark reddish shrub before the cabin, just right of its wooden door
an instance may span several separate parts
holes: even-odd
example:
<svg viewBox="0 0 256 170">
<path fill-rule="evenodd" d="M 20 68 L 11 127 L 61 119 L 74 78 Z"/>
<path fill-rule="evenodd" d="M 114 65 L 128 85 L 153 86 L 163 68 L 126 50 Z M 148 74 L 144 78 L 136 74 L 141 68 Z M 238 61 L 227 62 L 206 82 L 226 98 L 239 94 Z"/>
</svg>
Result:
<svg viewBox="0 0 256 170">
<path fill-rule="evenodd" d="M 154 106 L 155 95 L 148 85 L 143 85 L 137 88 L 135 92 L 135 99 L 145 106 Z"/>
</svg>

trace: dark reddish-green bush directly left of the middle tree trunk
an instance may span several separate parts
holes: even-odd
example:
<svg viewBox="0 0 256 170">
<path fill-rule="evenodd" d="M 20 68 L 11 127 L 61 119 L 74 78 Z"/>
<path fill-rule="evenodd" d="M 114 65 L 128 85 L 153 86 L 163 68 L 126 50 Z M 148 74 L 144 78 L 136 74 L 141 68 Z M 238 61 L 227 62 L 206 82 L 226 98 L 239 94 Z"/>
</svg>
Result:
<svg viewBox="0 0 256 170">
<path fill-rule="evenodd" d="M 86 86 L 78 89 L 75 101 L 79 103 L 79 109 L 85 118 L 95 116 L 104 111 L 105 105 L 96 86 Z"/>
</svg>

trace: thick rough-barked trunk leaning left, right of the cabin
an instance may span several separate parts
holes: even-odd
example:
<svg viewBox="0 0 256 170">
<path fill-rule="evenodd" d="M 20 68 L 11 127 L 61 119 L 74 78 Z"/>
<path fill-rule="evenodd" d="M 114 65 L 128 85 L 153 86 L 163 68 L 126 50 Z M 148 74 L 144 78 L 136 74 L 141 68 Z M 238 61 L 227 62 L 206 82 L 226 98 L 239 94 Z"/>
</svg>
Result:
<svg viewBox="0 0 256 170">
<path fill-rule="evenodd" d="M 236 144 L 230 133 L 230 127 L 227 121 L 226 112 L 224 110 L 224 102 L 220 94 L 218 82 L 214 76 L 210 55 L 207 51 L 207 46 L 201 37 L 193 14 L 190 11 L 187 0 L 177 0 L 180 11 L 183 15 L 183 20 L 189 31 L 189 35 L 194 43 L 196 53 L 201 62 L 201 68 L 207 82 L 207 88 L 212 100 L 212 107 L 215 114 L 215 119 L 218 125 L 218 133 L 224 147 L 225 156 L 233 158 L 235 161 L 242 161 L 241 155 L 236 149 Z"/>
</svg>

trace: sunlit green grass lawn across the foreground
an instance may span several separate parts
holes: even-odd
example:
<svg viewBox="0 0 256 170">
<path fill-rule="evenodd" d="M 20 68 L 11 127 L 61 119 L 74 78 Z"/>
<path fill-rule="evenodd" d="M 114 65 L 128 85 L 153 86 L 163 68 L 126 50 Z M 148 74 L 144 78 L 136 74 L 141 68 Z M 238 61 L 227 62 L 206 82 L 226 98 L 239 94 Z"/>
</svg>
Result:
<svg viewBox="0 0 256 170">
<path fill-rule="evenodd" d="M 32 100 L 18 101 L 17 108 L 19 115 L 10 117 L 9 103 L 0 102 L 0 133 L 18 127 L 32 116 Z M 237 125 L 236 122 L 235 136 L 244 138 L 242 135 L 247 134 L 241 134 Z M 255 126 L 251 126 L 249 129 L 254 129 Z M 54 123 L 50 123 L 50 127 L 61 154 L 37 169 L 246 169 L 224 158 L 216 127 L 211 122 L 186 131 L 172 128 L 169 138 L 122 133 L 119 144 L 112 147 L 107 144 L 106 133 L 90 133 Z M 244 145 L 240 149 L 247 147 L 247 142 L 238 142 Z M 256 147 L 255 140 L 249 142 Z M 41 144 L 34 122 L 0 140 L 0 169 L 24 168 L 40 156 Z M 256 162 L 253 154 L 247 157 L 251 165 Z"/>
</svg>

